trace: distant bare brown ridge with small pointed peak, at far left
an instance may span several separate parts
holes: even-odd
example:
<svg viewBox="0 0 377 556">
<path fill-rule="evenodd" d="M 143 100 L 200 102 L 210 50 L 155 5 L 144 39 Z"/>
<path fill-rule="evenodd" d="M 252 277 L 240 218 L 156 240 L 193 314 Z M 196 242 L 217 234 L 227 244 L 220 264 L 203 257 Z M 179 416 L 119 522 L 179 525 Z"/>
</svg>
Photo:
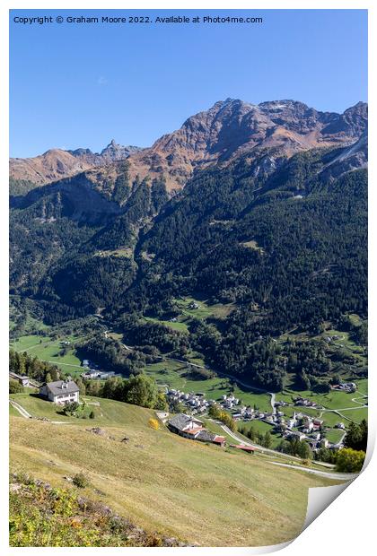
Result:
<svg viewBox="0 0 377 556">
<path fill-rule="evenodd" d="M 73 176 L 94 166 L 125 160 L 132 152 L 138 150 L 138 147 L 125 147 L 115 143 L 114 140 L 101 153 L 92 152 L 90 149 L 76 149 L 75 151 L 51 149 L 34 158 L 11 159 L 9 172 L 13 180 L 27 180 L 32 184 L 44 185 L 57 179 Z"/>
</svg>

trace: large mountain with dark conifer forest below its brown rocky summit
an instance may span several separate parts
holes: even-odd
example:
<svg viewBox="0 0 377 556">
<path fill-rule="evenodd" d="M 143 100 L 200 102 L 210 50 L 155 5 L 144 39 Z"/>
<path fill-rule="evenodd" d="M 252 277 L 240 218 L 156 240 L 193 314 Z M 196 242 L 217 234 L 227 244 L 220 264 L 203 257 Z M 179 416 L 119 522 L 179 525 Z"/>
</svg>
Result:
<svg viewBox="0 0 377 556">
<path fill-rule="evenodd" d="M 110 163 L 11 199 L 11 292 L 48 323 L 101 310 L 136 345 L 279 388 L 284 358 L 264 339 L 366 318 L 364 103 L 226 100 L 127 160 L 108 149 Z M 182 296 L 232 311 L 183 339 L 145 330 Z"/>
</svg>

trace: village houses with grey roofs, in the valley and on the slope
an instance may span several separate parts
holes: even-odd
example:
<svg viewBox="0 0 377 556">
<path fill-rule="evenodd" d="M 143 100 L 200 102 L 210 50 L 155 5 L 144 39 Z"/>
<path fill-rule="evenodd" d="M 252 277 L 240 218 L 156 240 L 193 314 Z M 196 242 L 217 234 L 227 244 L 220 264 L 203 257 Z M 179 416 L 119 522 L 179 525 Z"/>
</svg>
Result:
<svg viewBox="0 0 377 556">
<path fill-rule="evenodd" d="M 90 360 L 82 361 L 83 372 L 81 378 L 92 380 L 107 380 L 118 376 L 115 372 L 104 371 Z M 79 389 L 75 381 L 60 380 L 47 385 L 37 385 L 26 376 L 10 373 L 10 378 L 18 381 L 22 387 L 39 387 L 39 395 L 56 404 L 66 404 L 72 401 L 79 401 Z M 353 382 L 332 385 L 332 390 L 343 392 L 355 392 L 356 385 Z M 224 447 L 225 437 L 216 435 L 209 430 L 199 417 L 208 418 L 210 408 L 217 406 L 224 412 L 229 413 L 233 421 L 250 422 L 263 421 L 271 426 L 271 433 L 279 435 L 281 439 L 298 439 L 308 442 L 313 452 L 322 447 L 338 450 L 343 447 L 343 439 L 346 436 L 346 426 L 340 421 L 334 428 L 344 431 L 338 442 L 329 442 L 326 438 L 326 426 L 319 417 L 305 413 L 305 409 L 324 411 L 326 408 L 311 401 L 308 398 L 297 395 L 292 398 L 292 403 L 286 401 L 276 401 L 276 395 L 271 394 L 271 411 L 261 411 L 257 406 L 242 404 L 241 399 L 232 394 L 224 394 L 220 399 L 206 399 L 203 392 L 183 392 L 179 389 L 164 387 L 167 402 L 171 413 L 163 420 L 168 428 L 180 436 L 196 439 L 204 442 L 211 442 Z M 289 408 L 285 409 L 285 408 Z M 294 411 L 292 412 L 292 408 Z M 169 415 L 169 420 L 168 420 Z M 234 438 L 236 438 L 234 436 Z M 238 438 L 241 441 L 240 438 Z M 235 447 L 248 448 L 245 444 L 234 445 Z M 254 449 L 254 448 L 253 448 Z M 249 449 L 247 451 L 253 451 Z"/>
</svg>

